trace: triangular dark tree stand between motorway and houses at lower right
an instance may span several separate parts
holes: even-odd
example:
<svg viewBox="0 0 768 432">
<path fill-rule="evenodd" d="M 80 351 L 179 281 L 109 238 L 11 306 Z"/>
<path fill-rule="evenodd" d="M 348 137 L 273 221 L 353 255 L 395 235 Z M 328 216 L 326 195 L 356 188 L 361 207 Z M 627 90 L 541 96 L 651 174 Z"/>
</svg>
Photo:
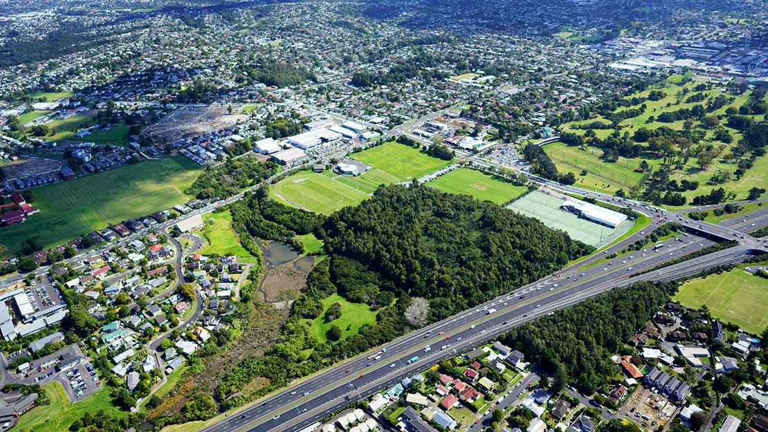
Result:
<svg viewBox="0 0 768 432">
<path fill-rule="evenodd" d="M 677 282 L 637 282 L 512 328 L 502 341 L 588 394 L 623 378 L 611 355 L 677 291 Z"/>
</svg>

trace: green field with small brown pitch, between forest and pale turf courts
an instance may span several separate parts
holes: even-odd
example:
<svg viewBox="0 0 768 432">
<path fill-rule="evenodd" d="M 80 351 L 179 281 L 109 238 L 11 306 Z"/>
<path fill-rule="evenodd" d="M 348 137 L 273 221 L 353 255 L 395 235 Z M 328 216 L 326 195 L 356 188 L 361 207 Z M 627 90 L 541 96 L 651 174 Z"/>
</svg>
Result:
<svg viewBox="0 0 768 432">
<path fill-rule="evenodd" d="M 427 184 L 443 192 L 463 193 L 478 200 L 493 201 L 497 204 L 506 203 L 528 190 L 524 186 L 495 180 L 488 174 L 467 168 L 457 168 Z"/>
</svg>

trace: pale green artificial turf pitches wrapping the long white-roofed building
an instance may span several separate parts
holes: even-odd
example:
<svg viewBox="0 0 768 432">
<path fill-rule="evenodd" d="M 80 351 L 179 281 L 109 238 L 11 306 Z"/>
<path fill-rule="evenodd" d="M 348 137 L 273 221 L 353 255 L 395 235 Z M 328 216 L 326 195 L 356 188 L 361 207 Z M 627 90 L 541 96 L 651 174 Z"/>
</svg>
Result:
<svg viewBox="0 0 768 432">
<path fill-rule="evenodd" d="M 525 216 L 535 217 L 552 229 L 568 232 L 571 239 L 600 247 L 614 241 L 633 226 L 633 221 L 624 221 L 617 228 L 609 228 L 558 209 L 564 201 L 546 193 L 532 192 L 507 206 L 508 209 Z"/>
</svg>

